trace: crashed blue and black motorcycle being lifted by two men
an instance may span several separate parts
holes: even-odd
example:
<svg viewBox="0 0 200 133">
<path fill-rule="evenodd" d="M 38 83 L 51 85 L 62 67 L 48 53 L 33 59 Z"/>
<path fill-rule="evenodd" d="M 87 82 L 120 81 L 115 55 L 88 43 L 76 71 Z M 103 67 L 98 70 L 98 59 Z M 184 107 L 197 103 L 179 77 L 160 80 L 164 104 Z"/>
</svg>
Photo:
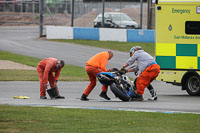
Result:
<svg viewBox="0 0 200 133">
<path fill-rule="evenodd" d="M 114 95 L 122 101 L 130 101 L 136 97 L 137 89 L 134 81 L 131 81 L 128 76 L 125 76 L 118 69 L 115 68 L 113 70 L 113 72 L 99 73 L 97 75 L 99 82 L 110 86 Z"/>
</svg>

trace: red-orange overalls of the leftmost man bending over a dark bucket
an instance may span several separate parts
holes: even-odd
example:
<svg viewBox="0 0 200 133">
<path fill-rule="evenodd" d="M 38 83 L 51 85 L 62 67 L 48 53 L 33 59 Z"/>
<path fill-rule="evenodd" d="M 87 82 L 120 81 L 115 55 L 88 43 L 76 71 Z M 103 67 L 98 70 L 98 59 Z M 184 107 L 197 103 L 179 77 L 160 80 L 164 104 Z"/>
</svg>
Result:
<svg viewBox="0 0 200 133">
<path fill-rule="evenodd" d="M 46 58 L 38 63 L 37 72 L 40 80 L 40 96 L 46 96 L 44 84 L 49 81 L 50 87 L 54 87 L 54 81 L 59 79 L 61 68 L 56 70 L 56 58 Z M 58 94 L 59 94 L 59 89 Z"/>
</svg>

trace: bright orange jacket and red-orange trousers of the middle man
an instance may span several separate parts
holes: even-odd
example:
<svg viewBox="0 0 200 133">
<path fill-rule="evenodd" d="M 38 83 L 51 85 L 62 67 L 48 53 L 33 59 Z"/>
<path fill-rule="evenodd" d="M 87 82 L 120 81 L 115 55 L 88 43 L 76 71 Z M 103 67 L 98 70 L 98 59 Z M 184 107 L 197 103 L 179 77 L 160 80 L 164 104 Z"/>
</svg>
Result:
<svg viewBox="0 0 200 133">
<path fill-rule="evenodd" d="M 90 94 L 90 92 L 94 89 L 94 87 L 96 86 L 96 77 L 97 77 L 98 73 L 107 72 L 106 64 L 107 64 L 108 60 L 109 60 L 109 53 L 101 52 L 101 53 L 94 55 L 92 58 L 90 58 L 86 62 L 85 70 L 88 74 L 90 83 L 86 87 L 83 94 L 88 96 Z M 107 92 L 107 90 L 108 90 L 108 86 L 102 85 L 102 91 Z"/>
</svg>

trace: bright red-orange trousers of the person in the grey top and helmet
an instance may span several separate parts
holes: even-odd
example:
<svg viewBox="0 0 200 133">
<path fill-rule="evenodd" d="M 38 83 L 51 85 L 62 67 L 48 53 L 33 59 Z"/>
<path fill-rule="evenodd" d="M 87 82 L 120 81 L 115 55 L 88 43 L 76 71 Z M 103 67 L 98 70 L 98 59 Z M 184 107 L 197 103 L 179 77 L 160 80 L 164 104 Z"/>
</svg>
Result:
<svg viewBox="0 0 200 133">
<path fill-rule="evenodd" d="M 137 78 L 137 94 L 142 95 L 144 89 L 158 76 L 159 73 L 160 66 L 158 64 L 153 64 L 147 67 Z"/>
</svg>

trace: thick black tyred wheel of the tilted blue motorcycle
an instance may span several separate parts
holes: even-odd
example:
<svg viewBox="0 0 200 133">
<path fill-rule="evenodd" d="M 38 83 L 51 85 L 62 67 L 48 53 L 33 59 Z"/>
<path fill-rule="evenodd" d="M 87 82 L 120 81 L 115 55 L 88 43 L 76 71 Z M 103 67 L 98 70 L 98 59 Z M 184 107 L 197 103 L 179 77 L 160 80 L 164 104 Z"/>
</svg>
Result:
<svg viewBox="0 0 200 133">
<path fill-rule="evenodd" d="M 115 94 L 115 96 L 118 97 L 120 100 L 122 100 L 122 101 L 130 100 L 130 97 L 125 95 L 123 90 L 121 88 L 119 88 L 116 83 L 112 83 L 110 85 L 110 89 Z"/>
</svg>

